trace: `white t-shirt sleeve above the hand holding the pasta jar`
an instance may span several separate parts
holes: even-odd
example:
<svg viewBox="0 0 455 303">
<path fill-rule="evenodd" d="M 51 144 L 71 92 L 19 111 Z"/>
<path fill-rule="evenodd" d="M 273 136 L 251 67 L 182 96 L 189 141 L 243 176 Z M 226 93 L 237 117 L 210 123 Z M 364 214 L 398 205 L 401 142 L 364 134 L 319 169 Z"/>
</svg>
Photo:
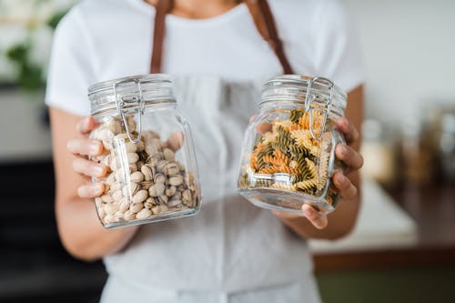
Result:
<svg viewBox="0 0 455 303">
<path fill-rule="evenodd" d="M 365 81 L 359 40 L 351 17 L 337 0 L 321 1 L 315 15 L 314 57 L 319 76 L 349 92 Z"/>
</svg>

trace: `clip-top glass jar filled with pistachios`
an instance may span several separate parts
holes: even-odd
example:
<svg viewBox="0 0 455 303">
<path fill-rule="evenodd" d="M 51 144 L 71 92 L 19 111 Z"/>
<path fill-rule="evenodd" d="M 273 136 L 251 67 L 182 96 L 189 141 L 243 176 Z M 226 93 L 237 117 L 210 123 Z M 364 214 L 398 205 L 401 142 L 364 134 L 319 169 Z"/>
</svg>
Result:
<svg viewBox="0 0 455 303">
<path fill-rule="evenodd" d="M 92 160 L 108 167 L 104 194 L 95 199 L 106 228 L 137 225 L 197 213 L 200 190 L 189 126 L 177 113 L 165 75 L 129 76 L 88 88 L 90 137 L 104 152 Z"/>
</svg>

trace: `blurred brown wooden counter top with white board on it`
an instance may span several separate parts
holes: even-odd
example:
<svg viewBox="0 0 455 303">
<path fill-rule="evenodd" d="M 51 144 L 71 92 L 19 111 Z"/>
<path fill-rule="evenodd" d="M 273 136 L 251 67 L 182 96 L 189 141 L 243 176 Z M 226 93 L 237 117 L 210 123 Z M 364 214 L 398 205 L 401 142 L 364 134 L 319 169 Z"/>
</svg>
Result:
<svg viewBox="0 0 455 303">
<path fill-rule="evenodd" d="M 371 190 L 376 193 L 369 196 Z M 389 208 L 389 211 L 372 216 L 371 213 L 379 211 L 375 201 L 378 193 L 382 204 L 389 205 L 381 209 Z M 335 242 L 310 243 L 317 272 L 455 265 L 454 184 L 404 186 L 388 193 L 377 186 L 364 186 L 362 207 L 358 227 L 352 235 Z M 374 219 L 382 222 L 379 227 L 393 228 L 379 228 L 375 234 L 366 228 L 371 224 L 362 223 Z"/>
</svg>

